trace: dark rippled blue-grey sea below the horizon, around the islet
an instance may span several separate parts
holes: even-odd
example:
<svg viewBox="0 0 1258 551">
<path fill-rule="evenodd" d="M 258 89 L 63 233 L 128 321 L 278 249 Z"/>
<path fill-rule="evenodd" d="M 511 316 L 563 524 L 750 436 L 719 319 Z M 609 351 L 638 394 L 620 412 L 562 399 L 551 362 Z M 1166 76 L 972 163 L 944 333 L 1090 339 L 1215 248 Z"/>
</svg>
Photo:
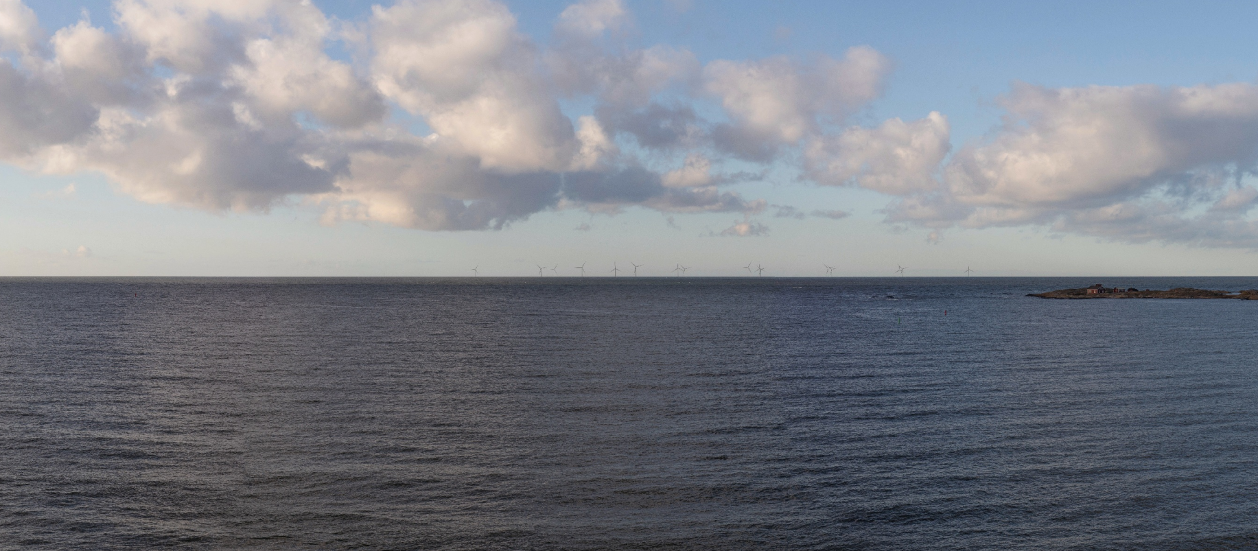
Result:
<svg viewBox="0 0 1258 551">
<path fill-rule="evenodd" d="M 1258 288 L 0 279 L 0 548 L 1258 548 L 1258 302 L 1092 283 Z"/>
</svg>

